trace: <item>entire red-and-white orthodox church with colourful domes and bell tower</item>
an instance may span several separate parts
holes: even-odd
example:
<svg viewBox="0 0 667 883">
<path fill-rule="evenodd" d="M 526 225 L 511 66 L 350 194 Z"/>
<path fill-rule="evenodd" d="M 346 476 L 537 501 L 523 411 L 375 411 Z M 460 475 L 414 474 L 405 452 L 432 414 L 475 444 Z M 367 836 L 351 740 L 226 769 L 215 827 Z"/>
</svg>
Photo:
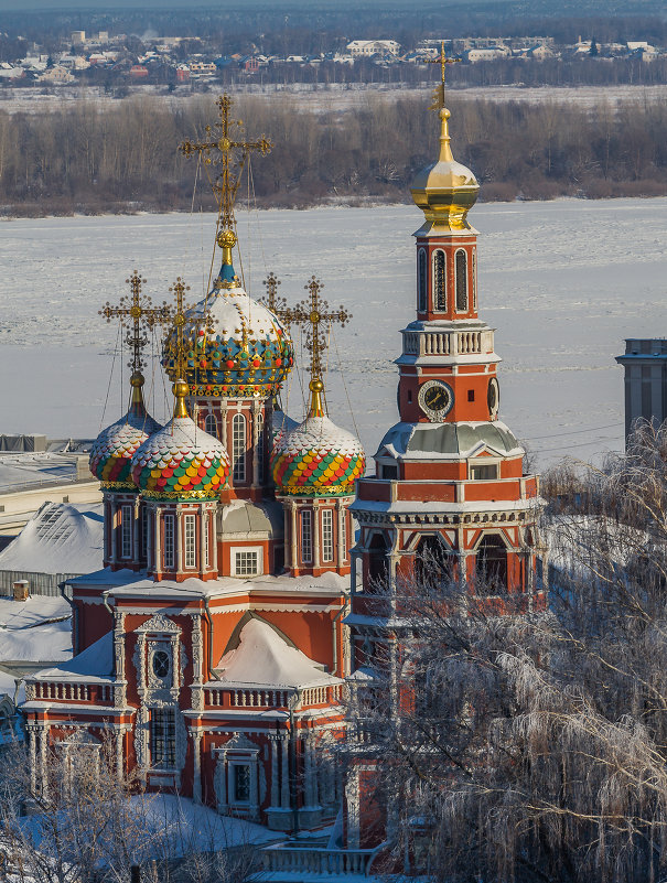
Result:
<svg viewBox="0 0 667 883">
<path fill-rule="evenodd" d="M 444 57 L 444 55 L 443 55 Z M 444 74 L 444 62 L 442 65 Z M 452 155 L 444 75 L 440 157 L 412 196 L 417 317 L 402 330 L 400 420 L 366 475 L 359 442 L 329 418 L 322 348 L 330 311 L 313 277 L 288 308 L 267 280 L 263 302 L 244 290 L 230 157 L 266 139 L 218 131 L 185 155 L 218 166 L 220 269 L 200 302 L 154 308 L 131 278 L 120 319 L 133 347 L 130 406 L 90 454 L 105 500 L 103 568 L 71 583 L 74 658 L 28 681 L 23 706 L 33 788 L 47 794 L 54 743 L 110 740 L 118 775 L 177 792 L 276 830 L 316 828 L 346 807 L 346 842 L 367 842 L 363 754 L 346 784 L 335 763 L 345 736 L 346 679 L 372 677 L 401 634 L 377 607 L 429 556 L 502 612 L 544 607 L 535 579 L 538 482 L 498 419 L 493 329 L 477 314 L 478 184 Z M 290 329 L 308 330 L 310 409 L 280 410 L 294 360 Z M 172 419 L 147 412 L 141 341 L 164 326 Z M 358 524 L 355 537 L 352 518 Z M 386 606 L 386 604 L 385 604 Z M 516 612 L 516 606 L 513 609 Z M 388 707 L 388 713 L 390 709 Z M 370 829 L 370 828 L 369 828 Z"/>
</svg>

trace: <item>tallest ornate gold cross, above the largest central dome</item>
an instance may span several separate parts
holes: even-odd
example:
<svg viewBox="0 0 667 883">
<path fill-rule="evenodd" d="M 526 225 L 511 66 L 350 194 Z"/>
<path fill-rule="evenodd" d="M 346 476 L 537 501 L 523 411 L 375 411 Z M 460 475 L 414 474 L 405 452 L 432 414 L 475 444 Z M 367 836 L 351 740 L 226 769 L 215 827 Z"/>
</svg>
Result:
<svg viewBox="0 0 667 883">
<path fill-rule="evenodd" d="M 257 151 L 263 157 L 269 153 L 273 147 L 263 136 L 256 141 L 246 141 L 243 137 L 240 140 L 235 141 L 230 137 L 230 129 L 233 127 L 243 127 L 243 120 L 229 119 L 229 109 L 233 104 L 234 101 L 228 95 L 220 95 L 216 100 L 216 105 L 219 108 L 220 121 L 215 122 L 213 127 L 206 126 L 205 131 L 208 136 L 208 140 L 201 142 L 183 141 L 179 148 L 184 157 L 192 157 L 198 153 L 203 157 L 206 165 L 220 166 L 220 171 L 215 182 L 212 184 L 213 193 L 218 204 L 218 217 L 222 227 L 217 236 L 217 243 L 220 248 L 224 247 L 224 241 L 229 247 L 228 234 L 234 236 L 232 246 L 236 245 L 236 236 L 234 235 L 234 203 L 248 157 L 252 151 Z M 214 129 L 217 129 L 217 131 L 214 132 Z M 234 160 L 235 154 L 237 154 L 236 160 Z M 225 235 L 227 235 L 226 239 Z"/>
</svg>

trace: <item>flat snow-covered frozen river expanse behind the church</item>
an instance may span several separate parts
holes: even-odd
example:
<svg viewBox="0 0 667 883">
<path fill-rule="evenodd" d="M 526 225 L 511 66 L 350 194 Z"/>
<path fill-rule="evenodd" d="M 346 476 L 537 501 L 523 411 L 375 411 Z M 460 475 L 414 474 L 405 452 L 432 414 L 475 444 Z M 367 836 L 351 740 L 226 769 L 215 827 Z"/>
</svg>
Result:
<svg viewBox="0 0 667 883">
<path fill-rule="evenodd" d="M 667 332 L 667 200 L 481 205 L 471 219 L 481 231 L 481 314 L 497 329 L 505 359 L 502 418 L 540 465 L 621 450 L 623 373 L 614 356 L 625 336 Z M 420 223 L 409 206 L 239 215 L 254 297 L 275 270 L 280 293 L 294 303 L 315 273 L 330 303 L 354 313 L 333 338 L 329 403 L 334 420 L 356 423 L 368 453 L 396 420 L 391 359 L 398 330 L 415 315 L 410 234 Z M 109 381 L 117 329 L 97 311 L 126 293 L 135 268 L 154 300 L 169 297 L 176 276 L 193 300 L 201 295 L 213 230 L 211 216 L 177 214 L 2 222 L 0 431 L 92 437 L 116 419 L 128 354 L 117 355 Z M 297 377 L 284 399 L 300 417 Z M 155 417 L 165 407 L 155 375 Z"/>
</svg>

